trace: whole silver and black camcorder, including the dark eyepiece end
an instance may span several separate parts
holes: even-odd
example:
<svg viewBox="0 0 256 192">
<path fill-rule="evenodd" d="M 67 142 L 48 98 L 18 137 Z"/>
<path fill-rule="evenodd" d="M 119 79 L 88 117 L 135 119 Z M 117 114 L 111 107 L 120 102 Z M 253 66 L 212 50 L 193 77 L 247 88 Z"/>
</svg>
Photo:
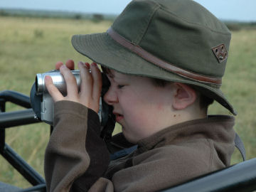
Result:
<svg viewBox="0 0 256 192">
<path fill-rule="evenodd" d="M 78 90 L 80 91 L 80 71 L 79 70 L 71 70 L 73 75 L 75 76 L 75 80 L 78 84 Z M 65 96 L 67 95 L 67 87 L 64 80 L 63 75 L 59 70 L 51 70 L 47 73 L 38 73 L 36 75 L 36 81 L 34 82 L 31 88 L 31 107 L 35 112 L 35 117 L 47 124 L 53 125 L 53 98 L 48 93 L 48 90 L 45 85 L 44 78 L 46 75 L 49 75 L 53 79 L 53 84 L 58 90 Z M 114 129 L 115 119 L 114 114 L 112 114 L 112 107 L 107 105 L 102 97 L 107 92 L 110 87 L 110 81 L 107 78 L 107 75 L 102 73 L 102 93 L 100 97 L 100 110 L 98 115 L 100 117 L 101 122 L 101 130 L 102 137 L 105 137 L 106 132 L 111 132 Z M 105 129 L 105 130 L 104 130 Z"/>
</svg>

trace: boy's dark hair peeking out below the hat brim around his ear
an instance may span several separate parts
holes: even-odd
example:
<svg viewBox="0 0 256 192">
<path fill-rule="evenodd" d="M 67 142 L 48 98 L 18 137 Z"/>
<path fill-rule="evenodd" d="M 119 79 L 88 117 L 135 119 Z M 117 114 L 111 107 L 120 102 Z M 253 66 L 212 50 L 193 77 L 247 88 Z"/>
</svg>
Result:
<svg viewBox="0 0 256 192">
<path fill-rule="evenodd" d="M 165 87 L 169 83 L 169 81 L 167 80 L 161 80 L 157 78 L 151 78 L 151 80 L 156 87 Z M 213 104 L 214 102 L 212 98 L 207 97 L 206 95 L 203 95 L 201 92 L 198 92 L 198 97 L 199 97 L 199 107 L 201 109 L 207 110 L 209 105 Z"/>
</svg>

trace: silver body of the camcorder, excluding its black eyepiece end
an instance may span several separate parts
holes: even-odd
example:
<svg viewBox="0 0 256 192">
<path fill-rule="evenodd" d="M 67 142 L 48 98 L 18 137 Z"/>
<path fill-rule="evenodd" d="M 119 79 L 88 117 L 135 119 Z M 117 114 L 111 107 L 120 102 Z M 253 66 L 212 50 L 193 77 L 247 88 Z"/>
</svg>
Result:
<svg viewBox="0 0 256 192">
<path fill-rule="evenodd" d="M 81 79 L 80 71 L 71 71 L 75 76 L 75 80 L 78 84 L 78 90 L 80 91 Z M 48 73 L 38 73 L 36 75 L 36 82 L 31 89 L 31 105 L 36 117 L 43 122 L 53 125 L 53 98 L 48 93 L 45 84 L 45 77 L 49 75 L 53 79 L 53 84 L 62 93 L 63 96 L 67 95 L 67 85 L 65 79 L 59 70 L 52 70 Z M 40 103 L 39 103 L 40 102 Z M 40 106 L 39 106 L 40 105 Z M 100 110 L 98 112 L 100 121 L 102 120 L 102 100 L 100 98 Z"/>
</svg>

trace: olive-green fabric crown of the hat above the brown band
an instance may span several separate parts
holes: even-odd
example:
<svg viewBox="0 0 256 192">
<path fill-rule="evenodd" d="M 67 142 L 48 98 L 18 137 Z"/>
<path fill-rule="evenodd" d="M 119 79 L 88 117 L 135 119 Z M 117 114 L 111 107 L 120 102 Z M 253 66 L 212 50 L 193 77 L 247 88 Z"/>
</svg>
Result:
<svg viewBox="0 0 256 192">
<path fill-rule="evenodd" d="M 134 45 L 179 68 L 215 78 L 225 72 L 212 48 L 225 45 L 230 31 L 207 9 L 190 0 L 135 0 L 112 24 Z M 161 77 L 160 77 L 161 78 Z"/>
</svg>

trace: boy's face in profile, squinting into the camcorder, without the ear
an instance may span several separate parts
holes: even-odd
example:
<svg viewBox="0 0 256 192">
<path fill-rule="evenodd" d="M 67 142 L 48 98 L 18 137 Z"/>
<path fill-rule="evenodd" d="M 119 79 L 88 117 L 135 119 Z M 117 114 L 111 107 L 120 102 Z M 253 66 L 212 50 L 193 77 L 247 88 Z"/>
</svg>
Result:
<svg viewBox="0 0 256 192">
<path fill-rule="evenodd" d="M 124 75 L 110 70 L 111 85 L 104 100 L 114 108 L 124 137 L 136 143 L 172 124 L 174 89 L 171 83 L 156 87 L 149 78 Z"/>
</svg>

